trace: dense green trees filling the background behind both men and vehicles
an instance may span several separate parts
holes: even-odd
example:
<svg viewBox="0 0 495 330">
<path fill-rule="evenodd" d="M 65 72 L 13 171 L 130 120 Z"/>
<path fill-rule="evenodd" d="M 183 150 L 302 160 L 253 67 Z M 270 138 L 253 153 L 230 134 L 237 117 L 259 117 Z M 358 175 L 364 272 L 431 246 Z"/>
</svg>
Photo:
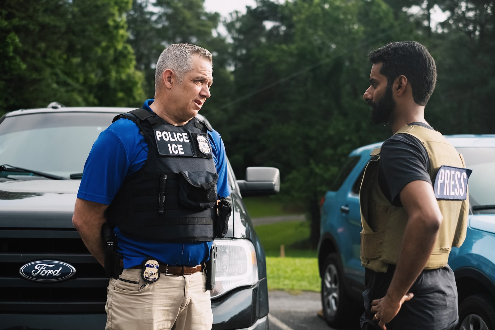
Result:
<svg viewBox="0 0 495 330">
<path fill-rule="evenodd" d="M 246 166 L 280 168 L 280 198 L 310 214 L 313 241 L 318 201 L 348 152 L 390 135 L 362 101 L 369 51 L 425 44 L 438 66 L 430 124 L 495 133 L 493 0 L 257 0 L 223 22 L 203 1 L 1 1 L 0 112 L 51 101 L 139 106 L 153 97 L 163 48 L 198 44 L 214 55 L 202 113 L 238 177 Z M 446 19 L 435 24 L 434 10 Z"/>
</svg>

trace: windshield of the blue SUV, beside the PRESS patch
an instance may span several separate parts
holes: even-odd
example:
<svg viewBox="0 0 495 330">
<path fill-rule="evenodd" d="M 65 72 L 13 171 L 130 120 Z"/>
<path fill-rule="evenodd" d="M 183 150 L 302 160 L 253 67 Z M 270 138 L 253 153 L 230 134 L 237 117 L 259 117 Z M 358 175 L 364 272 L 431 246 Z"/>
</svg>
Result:
<svg viewBox="0 0 495 330">
<path fill-rule="evenodd" d="M 464 156 L 466 167 L 473 170 L 469 177 L 469 204 L 471 206 L 495 205 L 495 148 L 456 148 Z M 494 213 L 495 210 L 479 210 L 475 213 Z"/>
</svg>

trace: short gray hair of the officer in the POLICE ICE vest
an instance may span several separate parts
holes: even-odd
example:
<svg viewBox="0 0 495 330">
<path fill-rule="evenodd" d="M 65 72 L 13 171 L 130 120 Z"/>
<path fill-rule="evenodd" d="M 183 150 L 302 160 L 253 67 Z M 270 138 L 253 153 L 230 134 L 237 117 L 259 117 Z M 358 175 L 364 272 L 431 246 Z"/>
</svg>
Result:
<svg viewBox="0 0 495 330">
<path fill-rule="evenodd" d="M 211 53 L 199 46 L 191 44 L 172 44 L 161 52 L 155 68 L 155 90 L 162 84 L 162 75 L 166 69 L 171 69 L 177 76 L 179 83 L 182 83 L 186 73 L 193 69 L 192 57 L 198 54 L 210 63 L 213 63 Z"/>
</svg>

